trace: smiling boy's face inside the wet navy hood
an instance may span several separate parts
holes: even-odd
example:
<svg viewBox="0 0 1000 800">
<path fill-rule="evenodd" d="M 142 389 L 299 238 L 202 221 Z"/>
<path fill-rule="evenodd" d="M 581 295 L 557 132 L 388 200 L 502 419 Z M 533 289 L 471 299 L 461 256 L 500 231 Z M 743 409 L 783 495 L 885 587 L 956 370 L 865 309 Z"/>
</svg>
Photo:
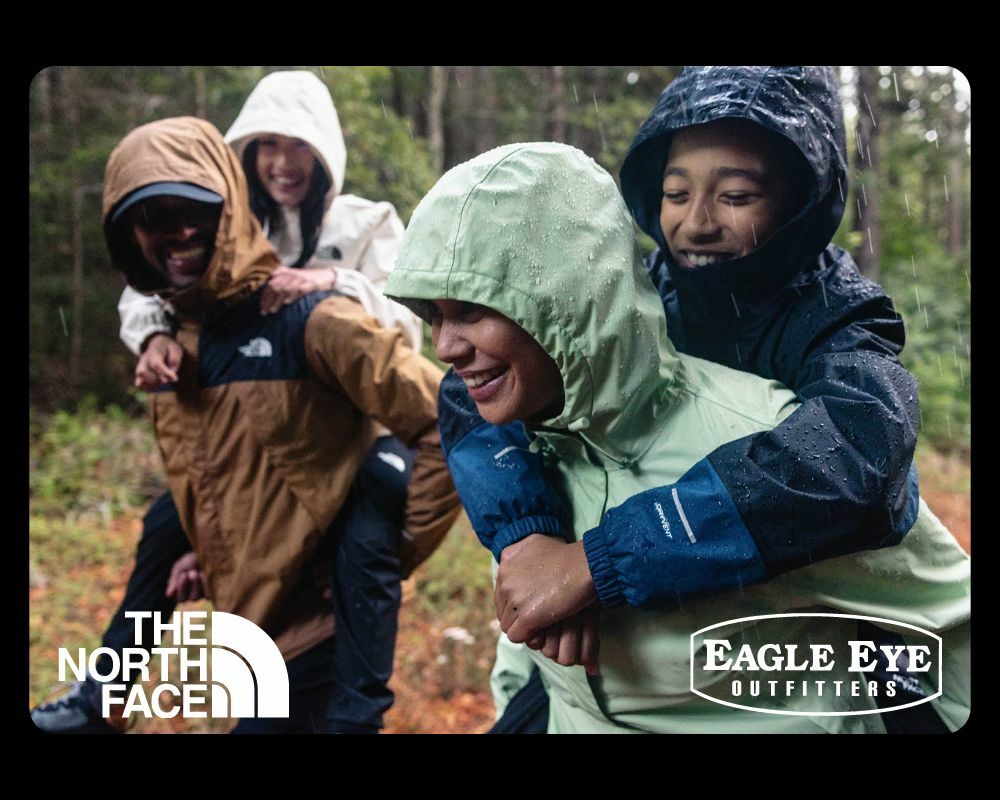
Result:
<svg viewBox="0 0 1000 800">
<path fill-rule="evenodd" d="M 682 268 L 740 258 L 797 210 L 788 158 L 752 122 L 722 119 L 678 131 L 663 176 L 660 227 Z"/>
</svg>

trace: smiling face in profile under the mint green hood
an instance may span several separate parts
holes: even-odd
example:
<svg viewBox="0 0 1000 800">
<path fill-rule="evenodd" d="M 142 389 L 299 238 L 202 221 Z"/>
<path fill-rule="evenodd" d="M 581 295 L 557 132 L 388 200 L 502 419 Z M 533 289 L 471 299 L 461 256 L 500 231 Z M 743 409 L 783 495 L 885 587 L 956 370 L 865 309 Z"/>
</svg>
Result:
<svg viewBox="0 0 1000 800">
<path fill-rule="evenodd" d="M 487 422 L 541 421 L 565 405 L 556 362 L 522 328 L 475 303 L 438 300 L 431 320 L 437 357 L 465 381 Z"/>
</svg>

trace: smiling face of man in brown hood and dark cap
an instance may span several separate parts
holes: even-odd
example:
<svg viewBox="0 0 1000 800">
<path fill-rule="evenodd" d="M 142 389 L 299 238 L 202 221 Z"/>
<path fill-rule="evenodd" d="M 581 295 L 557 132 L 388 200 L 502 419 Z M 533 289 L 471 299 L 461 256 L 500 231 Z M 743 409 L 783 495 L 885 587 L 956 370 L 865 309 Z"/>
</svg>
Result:
<svg viewBox="0 0 1000 800">
<path fill-rule="evenodd" d="M 152 266 L 184 289 L 208 269 L 222 206 L 184 197 L 161 196 L 129 209 L 136 244 Z"/>
</svg>

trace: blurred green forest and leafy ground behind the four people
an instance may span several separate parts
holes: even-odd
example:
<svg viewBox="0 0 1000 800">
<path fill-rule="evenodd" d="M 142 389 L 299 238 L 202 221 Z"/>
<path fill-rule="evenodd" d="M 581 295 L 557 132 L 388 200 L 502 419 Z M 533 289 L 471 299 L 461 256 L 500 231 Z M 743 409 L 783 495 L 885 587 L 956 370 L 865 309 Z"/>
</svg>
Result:
<svg viewBox="0 0 1000 800">
<path fill-rule="evenodd" d="M 123 278 L 108 261 L 100 223 L 108 154 L 132 128 L 164 117 L 194 115 L 225 132 L 260 78 L 279 69 L 309 69 L 326 83 L 347 141 L 344 191 L 391 201 L 404 222 L 443 171 L 508 142 L 567 142 L 617 178 L 639 125 L 680 71 L 66 66 L 38 73 L 29 89 L 28 152 L 32 704 L 57 688 L 58 647 L 99 643 L 131 568 L 143 509 L 164 488 L 146 399 L 131 388 L 134 357 L 118 339 Z M 903 316 L 903 363 L 920 383 L 921 493 L 968 549 L 970 86 L 949 67 L 839 70 L 851 172 L 835 241 L 886 287 Z M 648 237 L 640 240 L 644 252 L 652 248 Z M 464 518 L 457 528 L 408 586 L 392 730 L 477 730 L 490 717 L 488 558 Z"/>
</svg>

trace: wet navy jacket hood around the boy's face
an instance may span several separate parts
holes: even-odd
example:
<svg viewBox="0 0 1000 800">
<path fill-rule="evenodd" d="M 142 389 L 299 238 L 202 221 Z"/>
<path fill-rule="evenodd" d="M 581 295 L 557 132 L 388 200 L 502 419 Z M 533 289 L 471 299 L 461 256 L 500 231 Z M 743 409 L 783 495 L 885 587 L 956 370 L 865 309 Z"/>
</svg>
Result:
<svg viewBox="0 0 1000 800">
<path fill-rule="evenodd" d="M 804 207 L 754 252 L 721 264 L 681 269 L 660 230 L 663 170 L 673 134 L 723 118 L 777 134 L 810 176 Z M 829 244 L 844 214 L 844 115 L 831 67 L 685 67 L 660 95 L 621 168 L 622 194 L 639 227 L 663 251 L 683 295 L 759 295 L 784 286 Z M 682 303 L 686 302 L 682 300 Z"/>
</svg>

